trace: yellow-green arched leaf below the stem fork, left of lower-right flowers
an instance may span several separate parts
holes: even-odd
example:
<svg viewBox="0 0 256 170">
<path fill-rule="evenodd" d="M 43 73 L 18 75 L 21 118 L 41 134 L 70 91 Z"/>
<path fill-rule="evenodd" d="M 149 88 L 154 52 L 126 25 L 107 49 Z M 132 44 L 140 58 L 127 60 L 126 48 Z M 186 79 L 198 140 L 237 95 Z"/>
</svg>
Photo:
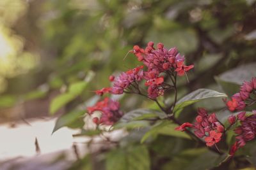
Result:
<svg viewBox="0 0 256 170">
<path fill-rule="evenodd" d="M 158 134 L 190 139 L 188 134 L 186 134 L 185 132 L 175 131 L 175 127 L 177 127 L 177 125 L 172 124 L 172 122 L 170 122 L 169 120 L 161 121 L 145 133 L 143 138 L 141 138 L 141 143 L 146 141 L 150 136 L 156 137 Z"/>
</svg>

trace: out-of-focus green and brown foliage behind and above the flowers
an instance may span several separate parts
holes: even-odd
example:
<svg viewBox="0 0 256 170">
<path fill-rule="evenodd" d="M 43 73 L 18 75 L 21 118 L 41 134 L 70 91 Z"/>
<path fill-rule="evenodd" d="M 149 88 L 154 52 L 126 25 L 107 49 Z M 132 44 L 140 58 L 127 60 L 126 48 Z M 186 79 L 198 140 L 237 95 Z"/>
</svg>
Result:
<svg viewBox="0 0 256 170">
<path fill-rule="evenodd" d="M 45 115 L 49 101 L 74 83 L 77 94 L 50 110 L 84 109 L 110 74 L 138 66 L 132 54 L 123 59 L 148 41 L 177 46 L 195 64 L 190 83 L 180 83 L 183 94 L 218 89 L 214 76 L 255 61 L 255 18 L 253 0 L 1 0 L 0 120 Z M 147 105 L 122 101 L 125 110 Z"/>
</svg>

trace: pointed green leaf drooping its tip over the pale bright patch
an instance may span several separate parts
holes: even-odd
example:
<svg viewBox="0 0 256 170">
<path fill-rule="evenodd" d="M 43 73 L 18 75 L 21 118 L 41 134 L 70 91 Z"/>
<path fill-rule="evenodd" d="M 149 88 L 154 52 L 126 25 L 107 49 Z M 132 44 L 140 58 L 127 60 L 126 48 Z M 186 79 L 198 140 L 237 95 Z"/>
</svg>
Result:
<svg viewBox="0 0 256 170">
<path fill-rule="evenodd" d="M 56 121 L 56 124 L 54 126 L 52 133 L 56 132 L 58 129 L 60 129 L 63 126 L 72 124 L 77 119 L 81 118 L 83 115 L 84 115 L 84 111 L 71 111 L 70 113 L 62 115 Z"/>
</svg>

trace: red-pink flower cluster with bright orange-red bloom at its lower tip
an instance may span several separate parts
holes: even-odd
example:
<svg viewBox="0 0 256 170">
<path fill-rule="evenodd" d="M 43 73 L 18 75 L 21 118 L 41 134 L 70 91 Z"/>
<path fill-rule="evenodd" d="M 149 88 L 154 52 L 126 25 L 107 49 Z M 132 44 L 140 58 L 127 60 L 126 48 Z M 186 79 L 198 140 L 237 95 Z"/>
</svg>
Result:
<svg viewBox="0 0 256 170">
<path fill-rule="evenodd" d="M 185 126 L 184 126 L 185 125 Z M 198 138 L 204 138 L 207 146 L 212 146 L 221 140 L 225 131 L 223 125 L 216 118 L 215 113 L 208 114 L 204 108 L 198 108 L 198 116 L 195 124 L 188 122 L 176 128 L 177 131 L 184 131 L 185 127 L 193 127 Z"/>
</svg>

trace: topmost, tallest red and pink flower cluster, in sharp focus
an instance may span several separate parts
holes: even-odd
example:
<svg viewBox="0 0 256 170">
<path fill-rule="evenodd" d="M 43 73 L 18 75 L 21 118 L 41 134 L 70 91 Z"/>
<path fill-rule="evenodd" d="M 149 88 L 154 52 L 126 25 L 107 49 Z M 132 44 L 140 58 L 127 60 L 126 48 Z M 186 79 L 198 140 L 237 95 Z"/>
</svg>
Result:
<svg viewBox="0 0 256 170">
<path fill-rule="evenodd" d="M 189 71 L 194 66 L 184 65 L 184 55 L 178 53 L 177 48 L 170 48 L 169 50 L 164 48 L 163 43 L 157 44 L 157 49 L 154 48 L 152 41 L 148 42 L 145 49 L 140 46 L 134 46 L 131 53 L 134 53 L 139 61 L 143 62 L 147 66 L 145 71 L 145 83 L 148 86 L 148 97 L 156 98 L 163 96 L 166 87 L 163 85 L 164 78 L 160 76 L 161 73 L 175 74 L 183 76 L 186 71 Z"/>
</svg>

